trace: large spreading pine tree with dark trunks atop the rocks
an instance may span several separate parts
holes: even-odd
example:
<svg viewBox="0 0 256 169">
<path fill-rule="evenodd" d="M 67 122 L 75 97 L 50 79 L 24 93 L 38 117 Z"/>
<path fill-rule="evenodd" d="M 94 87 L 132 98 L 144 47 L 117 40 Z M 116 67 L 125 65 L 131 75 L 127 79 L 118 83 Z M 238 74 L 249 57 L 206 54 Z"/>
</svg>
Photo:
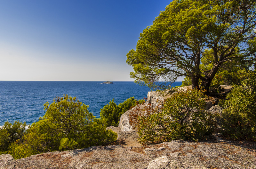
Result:
<svg viewBox="0 0 256 169">
<path fill-rule="evenodd" d="M 192 88 L 209 91 L 224 62 L 254 60 L 256 52 L 254 0 L 174 0 L 142 33 L 127 54 L 135 82 L 152 87 L 154 81 L 191 78 Z M 201 58 L 212 50 L 213 65 L 200 68 Z M 206 67 L 205 67 L 206 68 Z"/>
</svg>

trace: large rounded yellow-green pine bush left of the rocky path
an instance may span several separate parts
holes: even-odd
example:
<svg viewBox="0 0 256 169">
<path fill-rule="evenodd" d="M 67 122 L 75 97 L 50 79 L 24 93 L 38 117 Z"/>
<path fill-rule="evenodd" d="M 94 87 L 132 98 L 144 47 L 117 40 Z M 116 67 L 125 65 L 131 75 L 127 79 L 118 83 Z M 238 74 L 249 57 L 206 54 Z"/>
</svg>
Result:
<svg viewBox="0 0 256 169">
<path fill-rule="evenodd" d="M 88 106 L 76 97 L 64 95 L 54 102 L 44 104 L 46 113 L 33 123 L 22 137 L 22 142 L 12 144 L 10 153 L 15 158 L 33 154 L 82 149 L 93 145 L 108 144 L 117 138 L 106 130 L 104 121 L 96 119 Z"/>
</svg>

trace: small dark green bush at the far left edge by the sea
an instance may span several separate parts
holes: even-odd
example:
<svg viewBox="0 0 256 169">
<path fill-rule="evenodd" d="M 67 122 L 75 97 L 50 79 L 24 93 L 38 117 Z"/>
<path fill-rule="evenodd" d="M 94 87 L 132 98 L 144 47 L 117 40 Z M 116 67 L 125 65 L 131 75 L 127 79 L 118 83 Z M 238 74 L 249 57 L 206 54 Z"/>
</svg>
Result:
<svg viewBox="0 0 256 169">
<path fill-rule="evenodd" d="M 0 153 L 8 151 L 12 143 L 22 138 L 25 127 L 26 123 L 22 124 L 19 121 L 13 124 L 7 121 L 0 127 Z"/>
</svg>

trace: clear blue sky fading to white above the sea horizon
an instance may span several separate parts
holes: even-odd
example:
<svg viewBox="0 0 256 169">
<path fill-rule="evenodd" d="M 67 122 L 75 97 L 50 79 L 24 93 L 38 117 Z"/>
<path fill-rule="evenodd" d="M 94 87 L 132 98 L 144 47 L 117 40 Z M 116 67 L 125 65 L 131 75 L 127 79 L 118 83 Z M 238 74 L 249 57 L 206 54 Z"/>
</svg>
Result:
<svg viewBox="0 0 256 169">
<path fill-rule="evenodd" d="M 0 1 L 0 81 L 133 81 L 126 54 L 168 4 Z"/>
</svg>

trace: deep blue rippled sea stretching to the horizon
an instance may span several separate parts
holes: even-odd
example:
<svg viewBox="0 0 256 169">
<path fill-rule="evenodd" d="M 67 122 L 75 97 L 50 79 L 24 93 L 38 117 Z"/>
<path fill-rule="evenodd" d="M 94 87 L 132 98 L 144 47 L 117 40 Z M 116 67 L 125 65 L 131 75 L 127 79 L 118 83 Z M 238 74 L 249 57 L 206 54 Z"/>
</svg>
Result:
<svg viewBox="0 0 256 169">
<path fill-rule="evenodd" d="M 101 84 L 103 81 L 0 81 L 0 126 L 4 122 L 15 120 L 32 124 L 44 116 L 44 103 L 53 102 L 56 96 L 63 94 L 76 97 L 89 105 L 89 111 L 100 117 L 100 109 L 113 98 L 115 103 L 127 98 L 143 99 L 147 97 L 147 86 L 132 81 L 114 81 L 113 84 Z M 180 86 L 174 82 L 172 86 Z"/>
</svg>

